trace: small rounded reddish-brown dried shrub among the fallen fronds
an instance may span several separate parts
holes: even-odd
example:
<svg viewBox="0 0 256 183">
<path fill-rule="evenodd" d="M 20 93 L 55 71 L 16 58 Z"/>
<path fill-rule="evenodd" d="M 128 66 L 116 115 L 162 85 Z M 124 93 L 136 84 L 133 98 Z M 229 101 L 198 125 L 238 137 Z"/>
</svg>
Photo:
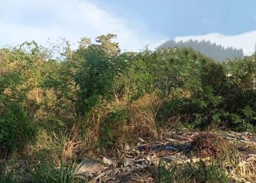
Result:
<svg viewBox="0 0 256 183">
<path fill-rule="evenodd" d="M 227 152 L 233 152 L 234 148 L 218 134 L 202 132 L 191 143 L 197 157 L 225 157 Z"/>
</svg>

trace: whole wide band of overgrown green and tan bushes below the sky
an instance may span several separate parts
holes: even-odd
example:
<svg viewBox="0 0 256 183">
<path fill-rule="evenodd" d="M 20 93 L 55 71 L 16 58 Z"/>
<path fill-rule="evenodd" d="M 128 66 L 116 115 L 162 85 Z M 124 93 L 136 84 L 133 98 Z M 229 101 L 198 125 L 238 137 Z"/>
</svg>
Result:
<svg viewBox="0 0 256 183">
<path fill-rule="evenodd" d="M 220 63 L 189 48 L 121 52 L 115 37 L 82 38 L 76 50 L 64 42 L 62 60 L 35 42 L 0 49 L 1 158 L 60 166 L 67 141 L 92 155 L 168 128 L 255 132 L 256 55 Z"/>
</svg>

